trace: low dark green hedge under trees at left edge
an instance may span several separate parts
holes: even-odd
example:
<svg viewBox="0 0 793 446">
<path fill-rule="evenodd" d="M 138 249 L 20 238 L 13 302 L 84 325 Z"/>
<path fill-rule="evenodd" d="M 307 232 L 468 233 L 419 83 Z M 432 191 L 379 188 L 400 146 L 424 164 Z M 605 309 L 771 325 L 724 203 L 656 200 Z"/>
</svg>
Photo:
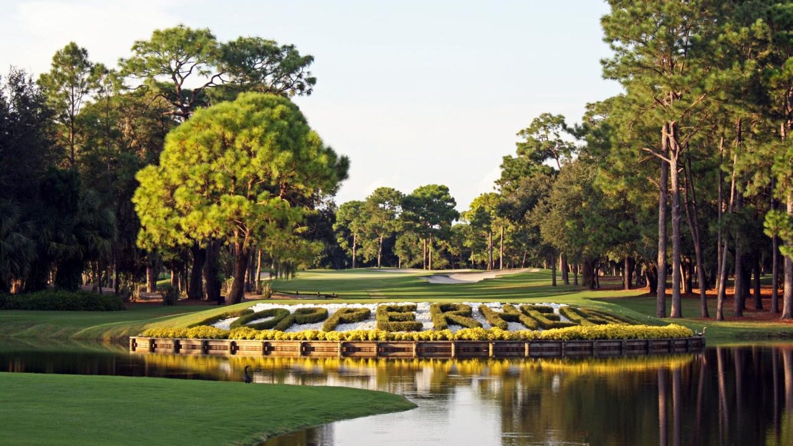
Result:
<svg viewBox="0 0 793 446">
<path fill-rule="evenodd" d="M 0 310 L 119 311 L 126 307 L 121 298 L 113 294 L 40 290 L 26 294 L 0 293 Z"/>
</svg>

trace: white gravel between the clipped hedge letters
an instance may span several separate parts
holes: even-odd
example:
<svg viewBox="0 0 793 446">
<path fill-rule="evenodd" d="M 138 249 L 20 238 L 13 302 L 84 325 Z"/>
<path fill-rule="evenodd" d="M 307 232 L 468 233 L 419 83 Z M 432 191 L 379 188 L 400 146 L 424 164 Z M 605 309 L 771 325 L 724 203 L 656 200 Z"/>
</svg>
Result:
<svg viewBox="0 0 793 446">
<path fill-rule="evenodd" d="M 473 310 L 472 317 L 473 319 L 479 321 L 482 324 L 482 327 L 485 329 L 489 329 L 490 324 L 485 321 L 485 317 L 479 312 L 479 306 L 483 303 L 492 308 L 496 311 L 501 311 L 501 307 L 506 305 L 509 302 L 462 302 L 465 305 L 471 306 L 471 310 Z M 351 324 L 339 324 L 336 326 L 336 330 L 338 332 L 347 332 L 350 330 L 374 330 L 377 328 L 377 321 L 375 321 L 374 313 L 377 310 L 377 306 L 379 305 L 416 305 L 416 321 L 419 321 L 423 325 L 422 331 L 427 331 L 432 329 L 432 318 L 430 317 L 430 305 L 431 302 L 383 302 L 380 304 L 376 303 L 328 303 L 328 304 L 294 304 L 294 305 L 286 305 L 281 303 L 258 303 L 255 306 L 251 306 L 251 310 L 255 312 L 263 311 L 263 310 L 270 310 L 273 308 L 285 308 L 287 310 L 297 310 L 298 308 L 309 308 L 309 307 L 320 307 L 325 308 L 328 310 L 328 317 L 331 317 L 333 313 L 338 311 L 341 308 L 368 308 L 372 311 L 371 316 L 366 319 L 365 321 L 360 322 L 353 322 Z M 519 306 L 520 304 L 513 304 L 515 306 Z M 542 304 L 538 303 L 538 305 L 547 305 L 554 307 L 554 313 L 559 313 L 559 307 L 564 306 L 564 304 L 557 304 L 553 302 L 542 302 Z M 213 324 L 214 327 L 219 329 L 228 330 L 230 325 L 233 321 L 236 321 L 237 317 L 229 317 L 228 319 L 224 319 L 223 321 L 217 321 Z M 262 318 L 256 319 L 255 321 L 251 321 L 249 323 L 253 324 L 255 322 L 262 322 L 266 321 L 269 318 Z M 567 321 L 567 318 L 564 316 L 561 317 L 562 321 Z M 319 330 L 322 329 L 322 324 L 324 321 L 315 322 L 313 324 L 300 324 L 300 325 L 292 325 L 289 329 L 286 329 L 287 332 L 300 332 L 303 330 Z M 460 325 L 449 325 L 449 329 L 451 332 L 457 332 L 459 329 L 462 329 Z M 517 331 L 517 330 L 524 330 L 524 327 L 519 322 L 510 322 L 508 329 L 510 331 Z"/>
</svg>

